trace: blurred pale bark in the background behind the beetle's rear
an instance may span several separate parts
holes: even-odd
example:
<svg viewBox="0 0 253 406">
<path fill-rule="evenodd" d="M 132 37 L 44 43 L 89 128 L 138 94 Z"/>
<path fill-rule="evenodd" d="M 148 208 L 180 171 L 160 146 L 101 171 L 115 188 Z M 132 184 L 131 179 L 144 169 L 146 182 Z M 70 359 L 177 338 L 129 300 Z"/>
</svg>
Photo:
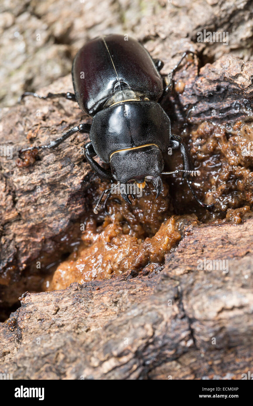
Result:
<svg viewBox="0 0 253 406">
<path fill-rule="evenodd" d="M 1 0 L 0 106 L 65 76 L 78 49 L 102 33 L 139 39 L 165 58 L 165 70 L 173 65 L 169 56 L 192 43 L 205 62 L 228 52 L 249 60 L 252 13 L 247 0 Z M 203 29 L 228 31 L 229 45 L 197 43 Z"/>
</svg>

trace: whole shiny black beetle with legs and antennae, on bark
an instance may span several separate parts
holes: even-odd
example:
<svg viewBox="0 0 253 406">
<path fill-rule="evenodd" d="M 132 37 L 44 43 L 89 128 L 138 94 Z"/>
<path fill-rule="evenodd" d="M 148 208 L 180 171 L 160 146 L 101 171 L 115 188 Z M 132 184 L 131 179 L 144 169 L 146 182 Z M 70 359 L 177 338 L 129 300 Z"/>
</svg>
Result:
<svg viewBox="0 0 253 406">
<path fill-rule="evenodd" d="M 183 60 L 185 52 L 179 63 Z M 177 68 L 175 66 L 173 71 Z M 92 124 L 80 124 L 51 141 L 49 145 L 21 149 L 55 148 L 75 132 L 88 133 L 90 142 L 85 145 L 85 157 L 101 179 L 116 179 L 123 199 L 131 203 L 126 186 L 130 182 L 145 184 L 152 181 L 156 197 L 162 191 L 161 174 L 183 172 L 190 190 L 188 176 L 192 171 L 190 156 L 180 136 L 171 134 L 170 119 L 160 103 L 172 89 L 171 75 L 162 77 L 161 60 L 153 60 L 137 41 L 123 35 L 107 35 L 87 42 L 76 54 L 72 67 L 73 93 L 24 93 L 40 98 L 65 97 L 78 102 L 82 111 L 93 117 Z M 173 72 L 172 71 L 172 72 Z M 172 73 L 171 72 L 171 73 Z M 184 170 L 163 172 L 163 154 L 171 149 L 181 149 Z M 93 157 L 110 163 L 111 171 L 102 168 Z M 102 193 L 94 212 L 101 208 Z M 134 196 L 133 196 L 134 197 Z"/>
</svg>

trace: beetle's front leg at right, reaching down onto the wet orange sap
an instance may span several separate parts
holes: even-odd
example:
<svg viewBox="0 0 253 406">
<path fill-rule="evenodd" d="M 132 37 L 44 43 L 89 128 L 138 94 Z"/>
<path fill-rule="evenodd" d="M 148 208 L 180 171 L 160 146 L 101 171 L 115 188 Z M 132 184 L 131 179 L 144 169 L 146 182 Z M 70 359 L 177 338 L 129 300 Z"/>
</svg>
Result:
<svg viewBox="0 0 253 406">
<path fill-rule="evenodd" d="M 214 207 L 213 204 L 207 205 L 207 204 L 203 203 L 201 200 L 199 200 L 199 198 L 195 194 L 195 191 L 192 189 L 191 181 L 189 180 L 188 176 L 191 175 L 192 172 L 194 175 L 195 171 L 192 171 L 192 162 L 190 160 L 190 155 L 187 151 L 186 145 L 183 142 L 182 137 L 180 137 L 179 135 L 171 134 L 171 146 L 172 146 L 172 149 L 178 149 L 180 147 L 181 153 L 183 155 L 184 171 L 189 172 L 188 174 L 185 173 L 184 177 L 186 178 L 189 189 L 192 192 L 195 199 L 197 200 L 197 202 L 205 209 L 211 209 L 212 207 Z"/>
</svg>

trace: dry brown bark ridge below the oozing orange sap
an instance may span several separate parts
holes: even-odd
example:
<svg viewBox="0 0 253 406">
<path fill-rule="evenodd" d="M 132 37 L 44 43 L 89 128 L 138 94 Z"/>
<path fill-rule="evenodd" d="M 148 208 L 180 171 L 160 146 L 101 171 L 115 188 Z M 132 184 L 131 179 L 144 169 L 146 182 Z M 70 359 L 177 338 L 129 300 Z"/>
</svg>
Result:
<svg viewBox="0 0 253 406">
<path fill-rule="evenodd" d="M 252 227 L 250 219 L 189 229 L 153 277 L 128 273 L 24 294 L 0 326 L 1 372 L 14 379 L 241 379 L 253 361 Z M 197 271 L 203 255 L 228 260 L 229 272 Z"/>
</svg>

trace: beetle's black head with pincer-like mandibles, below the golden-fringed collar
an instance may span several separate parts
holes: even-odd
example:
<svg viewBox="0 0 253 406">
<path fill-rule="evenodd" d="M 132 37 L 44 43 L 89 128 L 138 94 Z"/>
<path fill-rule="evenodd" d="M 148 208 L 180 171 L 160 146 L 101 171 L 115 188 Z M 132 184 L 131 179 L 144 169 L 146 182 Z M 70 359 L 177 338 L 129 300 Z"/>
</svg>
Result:
<svg viewBox="0 0 253 406">
<path fill-rule="evenodd" d="M 126 193 L 126 184 L 136 182 L 143 184 L 146 180 L 152 181 L 156 189 L 156 197 L 162 191 L 160 174 L 164 162 L 160 149 L 152 144 L 141 147 L 122 149 L 112 153 L 110 158 L 112 176 L 121 184 L 121 196 L 131 203 Z"/>
</svg>

